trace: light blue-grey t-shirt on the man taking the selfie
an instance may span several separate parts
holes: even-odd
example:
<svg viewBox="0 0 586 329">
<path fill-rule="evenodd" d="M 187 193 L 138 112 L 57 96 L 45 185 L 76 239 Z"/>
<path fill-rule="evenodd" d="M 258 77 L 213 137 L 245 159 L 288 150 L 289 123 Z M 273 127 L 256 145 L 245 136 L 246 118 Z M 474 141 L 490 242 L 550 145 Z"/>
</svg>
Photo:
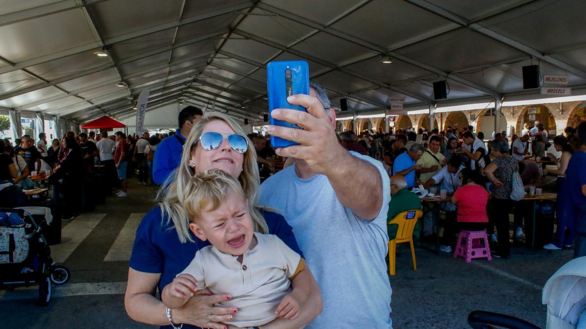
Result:
<svg viewBox="0 0 586 329">
<path fill-rule="evenodd" d="M 316 174 L 300 179 L 291 165 L 261 185 L 260 204 L 281 213 L 304 252 L 322 293 L 323 311 L 306 328 L 391 328 L 391 286 L 387 255 L 389 175 L 371 163 L 383 180 L 383 206 L 373 221 L 345 208 L 328 181 Z"/>
</svg>

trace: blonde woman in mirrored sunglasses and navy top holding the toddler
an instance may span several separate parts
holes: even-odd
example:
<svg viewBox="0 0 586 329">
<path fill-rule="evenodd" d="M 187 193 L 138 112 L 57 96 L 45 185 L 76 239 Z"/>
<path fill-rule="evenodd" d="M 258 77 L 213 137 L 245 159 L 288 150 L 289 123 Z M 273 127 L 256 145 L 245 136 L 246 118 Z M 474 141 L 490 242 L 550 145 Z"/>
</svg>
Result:
<svg viewBox="0 0 586 329">
<path fill-rule="evenodd" d="M 254 231 L 277 235 L 303 256 L 285 219 L 257 207 L 258 167 L 256 153 L 250 145 L 240 126 L 226 115 L 209 113 L 193 126 L 183 145 L 178 168 L 159 190 L 158 207 L 142 218 L 137 229 L 124 297 L 127 313 L 133 320 L 168 328 L 184 324 L 183 328 L 220 329 L 226 327 L 224 322 L 234 314 L 233 307 L 214 306 L 229 299 L 229 295 L 213 295 L 209 290 L 197 292 L 185 305 L 172 311 L 155 298 L 157 288 L 162 292 L 163 287 L 189 265 L 193 255 L 209 245 L 189 230 L 188 215 L 179 202 L 195 173 L 220 169 L 236 178 L 247 196 Z M 304 284 L 308 281 L 311 285 Z M 309 269 L 295 276 L 291 286 L 293 293 L 309 289 L 309 296 L 301 301 L 299 316 L 295 320 L 277 318 L 263 328 L 303 327 L 321 313 L 321 294 Z"/>
</svg>

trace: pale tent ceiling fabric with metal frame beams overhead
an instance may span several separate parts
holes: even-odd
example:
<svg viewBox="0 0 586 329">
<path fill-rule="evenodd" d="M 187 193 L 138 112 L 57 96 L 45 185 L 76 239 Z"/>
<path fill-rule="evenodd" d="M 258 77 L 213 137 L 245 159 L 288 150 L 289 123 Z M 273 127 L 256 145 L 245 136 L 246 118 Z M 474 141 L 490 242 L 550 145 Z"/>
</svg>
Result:
<svg viewBox="0 0 586 329">
<path fill-rule="evenodd" d="M 348 98 L 357 112 L 401 96 L 425 107 L 446 79 L 438 104 L 538 95 L 523 91 L 522 66 L 586 87 L 584 12 L 582 0 L 7 0 L 0 107 L 124 119 L 149 88 L 149 109 L 182 98 L 258 119 L 266 64 L 298 59 L 334 108 Z"/>
</svg>

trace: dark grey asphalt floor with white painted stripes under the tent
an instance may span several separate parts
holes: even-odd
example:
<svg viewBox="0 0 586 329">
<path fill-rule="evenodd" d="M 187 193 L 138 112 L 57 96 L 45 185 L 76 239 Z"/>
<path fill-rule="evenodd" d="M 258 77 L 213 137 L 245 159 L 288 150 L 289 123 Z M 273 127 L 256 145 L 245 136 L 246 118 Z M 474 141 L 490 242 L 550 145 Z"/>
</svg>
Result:
<svg viewBox="0 0 586 329">
<path fill-rule="evenodd" d="M 154 193 L 131 179 L 128 198 L 107 197 L 93 213 L 63 222 L 63 242 L 52 246 L 52 255 L 71 270 L 71 280 L 53 286 L 45 307 L 36 304 L 36 287 L 0 290 L 0 327 L 148 328 L 127 316 L 123 298 L 134 232 Z M 408 249 L 398 249 L 397 275 L 390 278 L 395 328 L 469 328 L 466 317 L 473 310 L 545 327 L 541 287 L 573 256 L 572 251 L 520 246 L 510 259 L 466 263 L 416 248 L 414 271 Z"/>
</svg>

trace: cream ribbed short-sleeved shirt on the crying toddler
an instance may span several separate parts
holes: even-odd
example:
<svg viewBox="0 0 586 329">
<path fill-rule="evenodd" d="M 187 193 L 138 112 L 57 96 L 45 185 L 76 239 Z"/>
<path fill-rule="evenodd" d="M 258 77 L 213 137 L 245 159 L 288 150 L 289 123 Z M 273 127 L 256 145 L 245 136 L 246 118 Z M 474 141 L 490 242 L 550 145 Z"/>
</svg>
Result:
<svg viewBox="0 0 586 329">
<path fill-rule="evenodd" d="M 281 299 L 291 292 L 289 277 L 297 270 L 301 257 L 275 235 L 255 232 L 257 245 L 244 253 L 242 263 L 236 256 L 206 246 L 180 274 L 197 280 L 197 288 L 214 294 L 230 294 L 223 307 L 236 307 L 238 313 L 226 322 L 236 327 L 267 324 L 276 317 Z"/>
</svg>

